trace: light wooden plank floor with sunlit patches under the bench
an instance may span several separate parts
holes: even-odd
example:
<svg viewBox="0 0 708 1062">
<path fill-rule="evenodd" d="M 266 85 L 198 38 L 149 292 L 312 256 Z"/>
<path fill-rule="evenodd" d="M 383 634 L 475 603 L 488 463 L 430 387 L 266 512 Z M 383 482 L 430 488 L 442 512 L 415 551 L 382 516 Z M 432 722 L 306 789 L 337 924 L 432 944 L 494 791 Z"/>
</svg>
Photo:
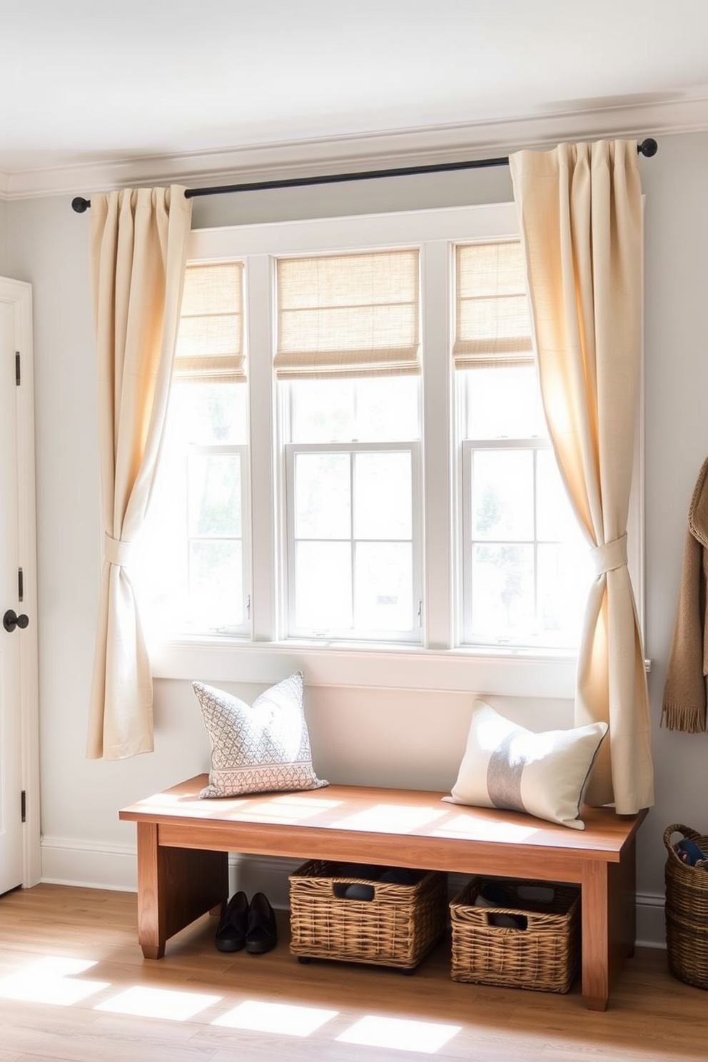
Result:
<svg viewBox="0 0 708 1062">
<path fill-rule="evenodd" d="M 135 925 L 132 893 L 40 885 L 0 896 L 0 1062 L 708 1058 L 708 995 L 673 978 L 664 952 L 628 960 L 598 1013 L 577 982 L 567 995 L 454 982 L 448 943 L 404 976 L 298 963 L 284 913 L 264 956 L 218 952 L 206 915 L 146 960 Z"/>
</svg>

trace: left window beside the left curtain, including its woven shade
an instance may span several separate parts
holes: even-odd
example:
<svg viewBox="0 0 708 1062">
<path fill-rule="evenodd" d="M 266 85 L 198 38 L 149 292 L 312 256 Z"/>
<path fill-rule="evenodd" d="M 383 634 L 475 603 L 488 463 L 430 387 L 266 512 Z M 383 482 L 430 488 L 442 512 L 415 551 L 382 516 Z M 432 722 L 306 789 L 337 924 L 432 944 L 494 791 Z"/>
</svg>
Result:
<svg viewBox="0 0 708 1062">
<path fill-rule="evenodd" d="M 152 630 L 248 631 L 243 332 L 243 264 L 190 266 L 136 580 Z"/>
</svg>

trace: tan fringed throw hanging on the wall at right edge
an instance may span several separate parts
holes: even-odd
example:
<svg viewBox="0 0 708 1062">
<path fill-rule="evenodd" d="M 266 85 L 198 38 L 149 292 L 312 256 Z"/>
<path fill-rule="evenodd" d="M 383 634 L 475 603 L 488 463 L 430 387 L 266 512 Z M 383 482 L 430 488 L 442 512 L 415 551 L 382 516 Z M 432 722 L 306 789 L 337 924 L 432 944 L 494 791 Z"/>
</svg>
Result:
<svg viewBox="0 0 708 1062">
<path fill-rule="evenodd" d="M 708 459 L 693 489 L 688 514 L 678 607 L 663 687 L 661 725 L 697 734 L 706 730 L 708 675 Z"/>
</svg>

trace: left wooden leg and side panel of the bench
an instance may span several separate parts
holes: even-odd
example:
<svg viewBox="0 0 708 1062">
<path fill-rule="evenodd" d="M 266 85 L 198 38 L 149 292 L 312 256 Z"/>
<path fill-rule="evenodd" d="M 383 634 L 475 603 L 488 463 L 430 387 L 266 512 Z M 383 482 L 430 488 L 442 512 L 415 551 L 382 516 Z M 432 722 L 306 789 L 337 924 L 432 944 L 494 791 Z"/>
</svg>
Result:
<svg viewBox="0 0 708 1062">
<path fill-rule="evenodd" d="M 159 826 L 138 826 L 138 943 L 161 959 L 166 941 L 228 896 L 228 854 L 163 847 Z"/>
</svg>

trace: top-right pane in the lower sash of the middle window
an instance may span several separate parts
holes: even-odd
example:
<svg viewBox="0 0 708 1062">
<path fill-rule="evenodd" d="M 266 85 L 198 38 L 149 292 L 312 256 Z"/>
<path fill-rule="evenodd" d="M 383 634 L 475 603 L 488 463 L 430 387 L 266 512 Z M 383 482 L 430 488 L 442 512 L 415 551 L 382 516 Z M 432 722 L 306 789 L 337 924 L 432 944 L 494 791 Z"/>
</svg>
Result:
<svg viewBox="0 0 708 1062">
<path fill-rule="evenodd" d="M 357 453 L 355 535 L 411 537 L 411 455 Z"/>
</svg>

